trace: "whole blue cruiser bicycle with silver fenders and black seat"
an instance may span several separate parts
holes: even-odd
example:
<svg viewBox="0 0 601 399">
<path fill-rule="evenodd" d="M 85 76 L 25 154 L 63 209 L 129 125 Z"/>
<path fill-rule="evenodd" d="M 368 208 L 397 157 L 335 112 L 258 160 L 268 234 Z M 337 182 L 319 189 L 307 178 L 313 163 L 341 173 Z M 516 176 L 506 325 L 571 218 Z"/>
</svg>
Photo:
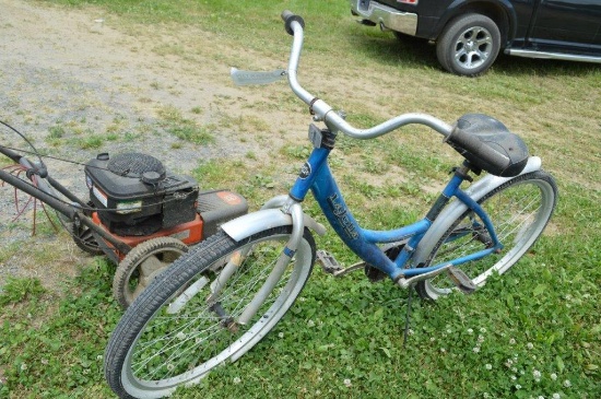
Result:
<svg viewBox="0 0 601 399">
<path fill-rule="evenodd" d="M 436 300 L 453 289 L 471 293 L 492 273 L 502 274 L 534 244 L 557 199 L 541 160 L 499 121 L 478 114 L 453 126 L 429 115 L 404 114 L 370 129 L 349 125 L 296 79 L 304 21 L 285 11 L 294 36 L 286 71 L 233 70 L 240 84 L 287 77 L 292 91 L 309 105 L 314 145 L 288 195 L 227 222 L 160 274 L 127 309 L 105 355 L 105 376 L 120 397 L 155 398 L 198 383 L 212 368 L 234 362 L 284 316 L 309 278 L 317 257 L 337 275 L 365 269 Z M 328 166 L 337 136 L 372 139 L 409 124 L 426 125 L 445 137 L 463 163 L 424 219 L 392 231 L 357 224 Z M 469 189 L 473 175 L 488 174 Z M 317 251 L 313 233 L 326 228 L 305 214 L 314 195 L 335 233 L 362 259 L 346 270 Z"/>
</svg>

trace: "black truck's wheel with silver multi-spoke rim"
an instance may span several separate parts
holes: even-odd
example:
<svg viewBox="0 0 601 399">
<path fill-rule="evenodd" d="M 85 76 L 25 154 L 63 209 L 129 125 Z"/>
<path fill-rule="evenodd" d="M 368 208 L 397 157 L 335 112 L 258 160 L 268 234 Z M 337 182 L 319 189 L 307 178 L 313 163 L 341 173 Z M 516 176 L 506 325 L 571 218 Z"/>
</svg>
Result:
<svg viewBox="0 0 601 399">
<path fill-rule="evenodd" d="M 443 68 L 466 77 L 486 71 L 499 49 L 498 26 L 482 14 L 466 14 L 451 20 L 436 40 L 436 56 Z"/>
</svg>

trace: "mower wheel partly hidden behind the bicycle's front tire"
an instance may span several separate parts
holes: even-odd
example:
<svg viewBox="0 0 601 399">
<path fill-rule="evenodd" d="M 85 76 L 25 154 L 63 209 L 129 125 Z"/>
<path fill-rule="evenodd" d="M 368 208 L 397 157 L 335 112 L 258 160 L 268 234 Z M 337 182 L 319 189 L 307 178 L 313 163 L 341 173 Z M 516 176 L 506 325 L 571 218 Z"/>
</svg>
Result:
<svg viewBox="0 0 601 399">
<path fill-rule="evenodd" d="M 127 309 L 150 282 L 188 251 L 188 246 L 172 237 L 156 237 L 133 247 L 119 262 L 113 279 L 113 295 Z"/>
</svg>

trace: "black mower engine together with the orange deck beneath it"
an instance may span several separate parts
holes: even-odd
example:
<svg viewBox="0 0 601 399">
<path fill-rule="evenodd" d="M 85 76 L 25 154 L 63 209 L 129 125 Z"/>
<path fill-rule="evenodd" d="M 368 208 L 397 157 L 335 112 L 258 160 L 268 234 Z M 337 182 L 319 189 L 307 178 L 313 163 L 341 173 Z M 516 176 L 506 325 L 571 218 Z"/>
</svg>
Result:
<svg viewBox="0 0 601 399">
<path fill-rule="evenodd" d="M 146 154 L 102 153 L 84 171 L 95 208 L 93 221 L 130 247 L 167 236 L 196 244 L 248 211 L 241 196 L 227 190 L 199 192 L 192 177 L 172 174 Z M 127 255 L 97 238 L 117 263 Z"/>
</svg>

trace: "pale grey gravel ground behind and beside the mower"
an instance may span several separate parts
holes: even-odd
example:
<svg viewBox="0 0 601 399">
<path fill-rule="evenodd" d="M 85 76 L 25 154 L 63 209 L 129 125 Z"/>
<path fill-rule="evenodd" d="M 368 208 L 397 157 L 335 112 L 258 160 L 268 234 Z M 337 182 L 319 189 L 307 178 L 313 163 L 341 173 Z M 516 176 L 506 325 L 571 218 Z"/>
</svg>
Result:
<svg viewBox="0 0 601 399">
<path fill-rule="evenodd" d="M 169 30 L 123 33 L 111 26 L 118 22 L 93 9 L 34 7 L 16 0 L 0 0 L 0 120 L 22 131 L 39 150 L 75 162 L 45 160 L 52 177 L 79 197 L 87 196 L 83 164 L 99 152 L 152 154 L 177 173 L 189 173 L 205 159 L 249 151 L 259 159 L 264 154 L 262 146 L 239 140 L 227 128 L 215 130 L 210 145 L 182 143 L 165 132 L 162 110 L 176 109 L 181 118 L 217 126 L 224 113 L 243 114 L 244 105 L 237 106 L 235 99 L 249 96 L 229 82 L 228 64 L 202 51 L 188 52 L 186 39 L 179 40 Z M 196 48 L 215 47 L 205 33 L 196 35 L 195 43 Z M 176 45 L 179 55 L 156 51 Z M 222 55 L 234 51 L 223 46 L 219 50 Z M 224 102 L 226 110 L 220 109 Z M 62 140 L 92 134 L 103 142 L 90 150 L 49 145 L 49 136 L 57 129 L 72 136 Z M 0 143 L 28 150 L 8 129 L 0 130 Z M 45 234 L 43 228 L 31 237 L 32 213 L 30 208 L 15 221 L 13 189 L 0 187 L 1 246 L 26 243 L 27 248 L 4 259 L 0 247 L 0 285 L 7 275 L 35 275 L 52 285 L 90 261 L 67 234 Z M 37 265 L 39 256 L 32 253 L 50 255 L 43 257 L 45 265 Z"/>
</svg>

